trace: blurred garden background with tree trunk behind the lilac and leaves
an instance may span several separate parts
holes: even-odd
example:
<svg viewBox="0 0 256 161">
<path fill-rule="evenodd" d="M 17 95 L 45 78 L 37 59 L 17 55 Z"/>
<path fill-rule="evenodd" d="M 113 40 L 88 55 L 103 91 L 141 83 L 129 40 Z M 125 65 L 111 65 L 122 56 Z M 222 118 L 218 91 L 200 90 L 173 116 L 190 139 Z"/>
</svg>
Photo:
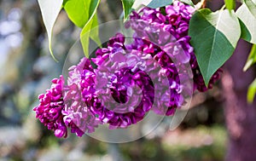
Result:
<svg viewBox="0 0 256 161">
<path fill-rule="evenodd" d="M 222 1 L 207 3 L 213 10 L 222 5 Z M 102 0 L 100 23 L 119 19 L 121 12 L 121 1 Z M 251 46 L 243 41 L 224 66 L 222 80 L 206 93 L 195 93 L 177 129 L 164 134 L 155 131 L 119 145 L 86 135 L 55 138 L 32 108 L 38 105 L 38 95 L 49 89 L 51 79 L 61 74 L 79 32 L 61 11 L 52 44 L 57 63 L 49 55 L 37 0 L 0 0 L 0 161 L 256 160 L 255 101 L 254 105 L 246 102 L 255 68 L 241 70 Z"/>
</svg>

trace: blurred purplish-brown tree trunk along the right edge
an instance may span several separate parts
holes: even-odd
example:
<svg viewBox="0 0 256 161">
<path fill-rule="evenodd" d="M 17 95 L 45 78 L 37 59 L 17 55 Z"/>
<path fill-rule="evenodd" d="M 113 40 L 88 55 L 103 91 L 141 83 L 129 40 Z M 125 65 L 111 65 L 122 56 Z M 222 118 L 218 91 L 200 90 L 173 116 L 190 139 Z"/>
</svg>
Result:
<svg viewBox="0 0 256 161">
<path fill-rule="evenodd" d="M 251 45 L 238 43 L 234 55 L 224 66 L 222 84 L 226 98 L 224 114 L 229 133 L 227 161 L 256 160 L 256 102 L 247 103 L 247 88 L 253 82 L 253 69 L 242 72 Z"/>
</svg>

